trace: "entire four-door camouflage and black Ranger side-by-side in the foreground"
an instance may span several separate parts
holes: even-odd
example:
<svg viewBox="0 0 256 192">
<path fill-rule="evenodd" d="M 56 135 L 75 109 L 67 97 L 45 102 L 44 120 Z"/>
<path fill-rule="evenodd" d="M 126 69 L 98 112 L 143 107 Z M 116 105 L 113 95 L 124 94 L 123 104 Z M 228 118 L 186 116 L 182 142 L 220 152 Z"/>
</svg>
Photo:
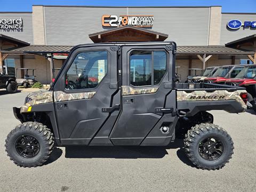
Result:
<svg viewBox="0 0 256 192">
<path fill-rule="evenodd" d="M 31 167 L 42 165 L 54 144 L 167 146 L 187 130 L 190 161 L 220 169 L 233 154 L 233 141 L 206 110 L 243 112 L 246 90 L 174 83 L 175 51 L 174 42 L 74 47 L 50 90 L 31 93 L 13 108 L 21 124 L 7 135 L 7 155 Z"/>
</svg>

